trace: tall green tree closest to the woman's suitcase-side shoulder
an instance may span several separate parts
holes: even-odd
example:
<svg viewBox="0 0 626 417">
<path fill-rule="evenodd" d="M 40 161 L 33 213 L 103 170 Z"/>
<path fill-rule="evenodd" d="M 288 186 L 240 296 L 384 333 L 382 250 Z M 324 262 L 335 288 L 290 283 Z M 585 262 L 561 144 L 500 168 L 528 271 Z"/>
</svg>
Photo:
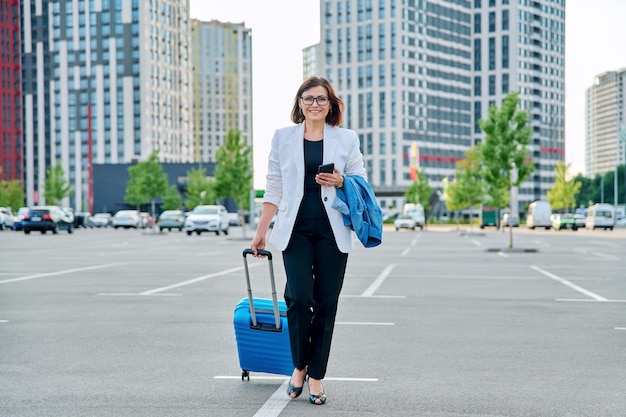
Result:
<svg viewBox="0 0 626 417">
<path fill-rule="evenodd" d="M 226 141 L 217 150 L 213 171 L 215 192 L 218 198 L 232 198 L 239 208 L 239 216 L 250 209 L 252 189 L 252 149 L 241 140 L 238 130 L 229 130 Z M 245 223 L 242 223 L 245 236 Z"/>
</svg>

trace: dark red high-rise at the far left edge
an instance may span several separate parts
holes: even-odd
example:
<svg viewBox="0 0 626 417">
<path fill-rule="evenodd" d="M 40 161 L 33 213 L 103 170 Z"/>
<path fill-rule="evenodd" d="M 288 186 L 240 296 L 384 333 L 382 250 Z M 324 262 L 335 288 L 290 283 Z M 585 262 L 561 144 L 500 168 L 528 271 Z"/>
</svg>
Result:
<svg viewBox="0 0 626 417">
<path fill-rule="evenodd" d="M 19 3 L 0 0 L 0 180 L 7 181 L 23 175 Z"/>
</svg>

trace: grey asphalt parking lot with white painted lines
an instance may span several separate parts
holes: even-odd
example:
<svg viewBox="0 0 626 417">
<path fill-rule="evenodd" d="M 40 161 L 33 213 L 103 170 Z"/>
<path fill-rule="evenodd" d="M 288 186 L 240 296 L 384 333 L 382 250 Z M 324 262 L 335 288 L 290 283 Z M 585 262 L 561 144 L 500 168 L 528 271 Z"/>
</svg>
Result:
<svg viewBox="0 0 626 417">
<path fill-rule="evenodd" d="M 241 380 L 251 236 L 0 232 L 0 415 L 626 416 L 626 229 L 521 227 L 513 251 L 494 250 L 508 231 L 451 226 L 357 243 L 324 406 L 289 401 L 286 376 Z"/>
</svg>

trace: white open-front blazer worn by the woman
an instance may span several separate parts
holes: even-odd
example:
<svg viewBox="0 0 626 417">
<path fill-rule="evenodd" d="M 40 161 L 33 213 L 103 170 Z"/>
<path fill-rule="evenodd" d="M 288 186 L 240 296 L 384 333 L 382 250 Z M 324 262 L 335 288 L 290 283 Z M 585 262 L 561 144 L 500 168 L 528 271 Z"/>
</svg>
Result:
<svg viewBox="0 0 626 417">
<path fill-rule="evenodd" d="M 324 126 L 323 163 L 335 163 L 341 175 L 366 178 L 363 155 L 356 132 L 340 127 Z M 335 187 L 322 186 L 322 202 L 330 220 L 337 247 L 348 253 L 354 248 L 352 231 L 344 226 L 339 210 L 332 207 Z M 278 207 L 276 222 L 269 242 L 284 251 L 289 244 L 298 209 L 304 196 L 304 123 L 278 129 L 272 138 L 268 161 L 267 183 L 263 202 Z"/>
</svg>

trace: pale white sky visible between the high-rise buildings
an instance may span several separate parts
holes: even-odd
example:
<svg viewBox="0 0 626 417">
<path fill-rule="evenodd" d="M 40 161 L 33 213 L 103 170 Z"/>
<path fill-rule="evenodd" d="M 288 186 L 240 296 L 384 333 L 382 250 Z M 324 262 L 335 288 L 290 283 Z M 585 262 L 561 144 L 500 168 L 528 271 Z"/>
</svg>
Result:
<svg viewBox="0 0 626 417">
<path fill-rule="evenodd" d="M 264 188 L 274 130 L 302 83 L 302 49 L 319 42 L 319 0 L 190 0 L 194 19 L 252 29 L 254 186 Z M 626 68 L 626 0 L 566 0 L 565 161 L 584 174 L 585 91 L 606 71 Z M 332 80 L 331 80 L 332 81 Z"/>
</svg>

